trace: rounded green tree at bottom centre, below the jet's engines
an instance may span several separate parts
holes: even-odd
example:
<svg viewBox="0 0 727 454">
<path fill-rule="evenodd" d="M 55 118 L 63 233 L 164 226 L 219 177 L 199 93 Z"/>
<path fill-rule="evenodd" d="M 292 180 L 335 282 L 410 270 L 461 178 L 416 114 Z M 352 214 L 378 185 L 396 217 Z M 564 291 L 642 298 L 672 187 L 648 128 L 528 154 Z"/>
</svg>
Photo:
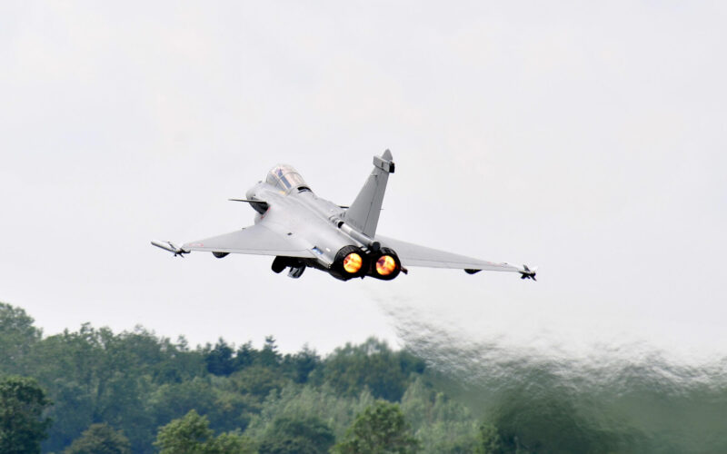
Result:
<svg viewBox="0 0 727 454">
<path fill-rule="evenodd" d="M 338 454 L 413 454 L 418 450 L 419 442 L 399 405 L 384 400 L 356 416 L 344 440 L 334 447 Z"/>
</svg>

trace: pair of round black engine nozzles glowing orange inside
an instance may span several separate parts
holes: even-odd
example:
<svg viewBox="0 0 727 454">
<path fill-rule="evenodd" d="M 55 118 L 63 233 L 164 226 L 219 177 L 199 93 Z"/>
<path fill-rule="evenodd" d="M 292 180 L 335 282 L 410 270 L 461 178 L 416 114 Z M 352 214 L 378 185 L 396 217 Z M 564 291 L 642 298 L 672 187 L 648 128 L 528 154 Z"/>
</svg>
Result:
<svg viewBox="0 0 727 454">
<path fill-rule="evenodd" d="M 396 252 L 389 248 L 372 248 L 369 251 L 356 246 L 344 246 L 336 254 L 331 273 L 338 279 L 371 276 L 391 281 L 402 271 L 402 262 Z"/>
</svg>

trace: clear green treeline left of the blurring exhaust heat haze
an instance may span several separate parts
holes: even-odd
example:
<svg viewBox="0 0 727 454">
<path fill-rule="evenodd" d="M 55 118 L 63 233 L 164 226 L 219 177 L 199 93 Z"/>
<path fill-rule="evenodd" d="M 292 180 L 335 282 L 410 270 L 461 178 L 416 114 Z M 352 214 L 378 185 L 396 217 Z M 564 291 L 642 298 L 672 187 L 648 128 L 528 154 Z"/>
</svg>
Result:
<svg viewBox="0 0 727 454">
<path fill-rule="evenodd" d="M 437 390 L 422 359 L 375 339 L 323 358 L 282 354 L 273 337 L 259 350 L 223 339 L 191 348 L 141 327 L 44 337 L 25 311 L 0 303 L 0 390 L 3 452 L 13 452 L 3 443 L 21 408 L 35 409 L 28 427 L 55 453 L 517 449 Z M 21 401 L 31 395 L 33 405 Z"/>
</svg>

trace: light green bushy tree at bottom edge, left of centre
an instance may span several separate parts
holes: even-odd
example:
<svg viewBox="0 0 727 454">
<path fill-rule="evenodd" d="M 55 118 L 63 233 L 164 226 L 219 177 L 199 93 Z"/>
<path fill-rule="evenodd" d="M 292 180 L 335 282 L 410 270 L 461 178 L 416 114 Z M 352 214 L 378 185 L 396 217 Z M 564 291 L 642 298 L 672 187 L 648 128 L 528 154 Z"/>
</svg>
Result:
<svg viewBox="0 0 727 454">
<path fill-rule="evenodd" d="M 247 437 L 227 432 L 214 437 L 206 417 L 190 410 L 184 418 L 174 419 L 159 428 L 154 446 L 160 454 L 253 454 L 253 443 Z"/>
</svg>

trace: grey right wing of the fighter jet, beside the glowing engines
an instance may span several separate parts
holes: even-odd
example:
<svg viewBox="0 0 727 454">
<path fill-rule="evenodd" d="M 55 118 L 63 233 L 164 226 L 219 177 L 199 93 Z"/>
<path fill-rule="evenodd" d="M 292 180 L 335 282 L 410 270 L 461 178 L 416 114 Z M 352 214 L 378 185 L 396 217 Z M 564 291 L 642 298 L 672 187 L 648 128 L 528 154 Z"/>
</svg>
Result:
<svg viewBox="0 0 727 454">
<path fill-rule="evenodd" d="M 436 249 L 419 246 L 411 242 L 402 242 L 377 235 L 376 240 L 383 246 L 392 248 L 399 256 L 403 266 L 423 266 L 428 268 L 455 268 L 467 271 L 516 271 L 523 274 L 532 274 L 534 271 L 511 265 L 510 263 L 495 263 L 473 259 L 452 252 L 438 251 Z"/>
</svg>

